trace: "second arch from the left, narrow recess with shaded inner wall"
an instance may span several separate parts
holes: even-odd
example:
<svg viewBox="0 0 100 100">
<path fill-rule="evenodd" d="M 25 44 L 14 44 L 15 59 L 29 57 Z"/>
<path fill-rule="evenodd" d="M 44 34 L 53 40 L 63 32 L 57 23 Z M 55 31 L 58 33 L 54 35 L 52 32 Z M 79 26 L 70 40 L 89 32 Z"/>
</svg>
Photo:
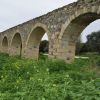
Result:
<svg viewBox="0 0 100 100">
<path fill-rule="evenodd" d="M 22 38 L 20 33 L 15 33 L 12 40 L 11 40 L 11 45 L 10 45 L 10 52 L 11 55 L 22 55 Z"/>
</svg>

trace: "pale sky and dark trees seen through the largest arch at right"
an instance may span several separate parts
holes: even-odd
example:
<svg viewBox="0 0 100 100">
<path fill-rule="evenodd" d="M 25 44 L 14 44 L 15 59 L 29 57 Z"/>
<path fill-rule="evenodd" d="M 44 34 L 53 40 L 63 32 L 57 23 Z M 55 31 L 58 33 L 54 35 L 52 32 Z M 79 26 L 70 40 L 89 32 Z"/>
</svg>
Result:
<svg viewBox="0 0 100 100">
<path fill-rule="evenodd" d="M 100 19 L 90 23 L 80 34 L 76 42 L 76 56 L 100 53 Z"/>
</svg>

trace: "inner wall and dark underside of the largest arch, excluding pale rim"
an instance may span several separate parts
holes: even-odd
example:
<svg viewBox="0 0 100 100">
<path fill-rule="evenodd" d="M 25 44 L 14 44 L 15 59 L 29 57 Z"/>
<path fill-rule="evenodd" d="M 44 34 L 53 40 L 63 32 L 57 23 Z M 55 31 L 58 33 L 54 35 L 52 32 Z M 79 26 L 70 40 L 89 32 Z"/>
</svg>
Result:
<svg viewBox="0 0 100 100">
<path fill-rule="evenodd" d="M 100 19 L 99 14 L 86 13 L 72 20 L 67 26 L 62 36 L 62 48 L 66 49 L 66 52 L 63 52 L 63 54 L 66 55 L 65 59 L 67 61 L 73 61 L 75 58 L 76 43 L 80 34 L 88 25 L 98 19 Z"/>
</svg>

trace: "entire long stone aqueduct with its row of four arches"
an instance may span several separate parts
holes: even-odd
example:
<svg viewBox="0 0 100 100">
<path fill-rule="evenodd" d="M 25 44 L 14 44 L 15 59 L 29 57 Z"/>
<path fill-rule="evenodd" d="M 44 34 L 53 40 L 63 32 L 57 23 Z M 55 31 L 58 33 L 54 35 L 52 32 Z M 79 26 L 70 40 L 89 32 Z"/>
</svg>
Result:
<svg viewBox="0 0 100 100">
<path fill-rule="evenodd" d="M 38 59 L 44 33 L 49 39 L 49 57 L 71 62 L 80 33 L 100 19 L 100 0 L 78 0 L 48 14 L 0 33 L 0 52 Z"/>
</svg>

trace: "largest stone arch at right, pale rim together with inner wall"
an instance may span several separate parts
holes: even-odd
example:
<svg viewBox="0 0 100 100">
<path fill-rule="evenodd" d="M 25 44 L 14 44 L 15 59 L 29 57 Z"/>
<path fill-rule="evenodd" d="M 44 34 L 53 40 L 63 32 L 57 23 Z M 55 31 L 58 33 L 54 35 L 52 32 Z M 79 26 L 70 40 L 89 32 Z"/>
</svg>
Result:
<svg viewBox="0 0 100 100">
<path fill-rule="evenodd" d="M 61 40 L 62 59 L 68 62 L 74 60 L 76 41 L 81 32 L 93 21 L 100 19 L 100 7 L 92 6 L 76 11 L 62 26 Z"/>
</svg>

